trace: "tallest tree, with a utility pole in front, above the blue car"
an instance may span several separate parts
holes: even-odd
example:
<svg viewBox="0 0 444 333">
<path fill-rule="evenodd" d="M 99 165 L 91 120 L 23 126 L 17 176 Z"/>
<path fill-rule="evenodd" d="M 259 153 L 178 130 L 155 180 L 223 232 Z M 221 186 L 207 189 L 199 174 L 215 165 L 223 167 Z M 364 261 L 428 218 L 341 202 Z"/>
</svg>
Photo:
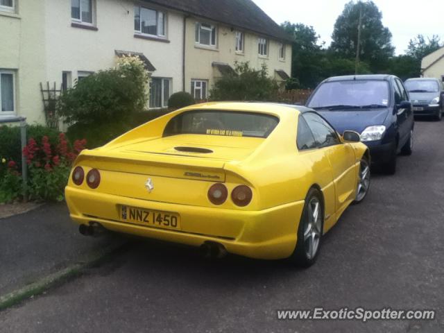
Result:
<svg viewBox="0 0 444 333">
<path fill-rule="evenodd" d="M 330 49 L 337 55 L 354 59 L 358 44 L 359 15 L 362 15 L 359 58 L 377 73 L 388 68 L 395 52 L 391 32 L 382 24 L 382 12 L 373 1 L 350 1 L 336 19 Z"/>
</svg>

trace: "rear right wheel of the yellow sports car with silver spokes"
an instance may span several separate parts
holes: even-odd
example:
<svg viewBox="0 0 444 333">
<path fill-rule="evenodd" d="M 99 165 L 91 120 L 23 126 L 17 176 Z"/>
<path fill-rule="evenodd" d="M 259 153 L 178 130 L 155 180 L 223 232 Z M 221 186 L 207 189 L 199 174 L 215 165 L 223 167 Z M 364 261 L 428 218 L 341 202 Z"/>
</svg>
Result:
<svg viewBox="0 0 444 333">
<path fill-rule="evenodd" d="M 316 216 L 316 217 L 315 217 Z M 324 205 L 321 191 L 311 188 L 298 226 L 298 241 L 290 259 L 293 264 L 308 268 L 316 262 L 324 228 Z"/>
</svg>

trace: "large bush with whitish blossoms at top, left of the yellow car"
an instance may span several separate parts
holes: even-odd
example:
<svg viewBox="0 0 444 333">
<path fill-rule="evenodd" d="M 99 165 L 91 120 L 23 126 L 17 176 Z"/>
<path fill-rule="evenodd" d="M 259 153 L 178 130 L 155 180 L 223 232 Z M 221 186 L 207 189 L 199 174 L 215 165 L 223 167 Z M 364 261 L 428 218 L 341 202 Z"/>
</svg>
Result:
<svg viewBox="0 0 444 333">
<path fill-rule="evenodd" d="M 119 58 L 117 67 L 83 78 L 58 100 L 67 123 L 128 122 L 147 103 L 148 74 L 137 57 Z"/>
</svg>

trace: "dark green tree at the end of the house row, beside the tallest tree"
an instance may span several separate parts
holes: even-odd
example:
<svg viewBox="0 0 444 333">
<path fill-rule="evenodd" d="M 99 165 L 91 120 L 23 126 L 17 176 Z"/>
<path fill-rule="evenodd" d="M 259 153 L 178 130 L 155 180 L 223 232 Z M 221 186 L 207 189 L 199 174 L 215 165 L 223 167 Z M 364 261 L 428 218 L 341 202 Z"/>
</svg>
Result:
<svg viewBox="0 0 444 333">
<path fill-rule="evenodd" d="M 318 44 L 319 35 L 312 26 L 284 22 L 282 28 L 293 36 L 293 58 L 291 77 L 288 87 L 314 88 L 323 79 L 321 76 L 322 47 Z"/>
</svg>

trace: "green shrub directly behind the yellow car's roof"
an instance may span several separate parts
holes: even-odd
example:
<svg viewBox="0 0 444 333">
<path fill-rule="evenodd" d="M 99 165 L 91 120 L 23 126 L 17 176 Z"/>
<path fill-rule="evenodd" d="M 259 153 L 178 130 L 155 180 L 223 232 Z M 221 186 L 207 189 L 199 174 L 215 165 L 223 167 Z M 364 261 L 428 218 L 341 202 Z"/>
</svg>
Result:
<svg viewBox="0 0 444 333">
<path fill-rule="evenodd" d="M 265 64 L 256 70 L 248 62 L 237 62 L 234 73 L 216 80 L 210 97 L 213 101 L 273 101 L 278 90 Z"/>
</svg>

